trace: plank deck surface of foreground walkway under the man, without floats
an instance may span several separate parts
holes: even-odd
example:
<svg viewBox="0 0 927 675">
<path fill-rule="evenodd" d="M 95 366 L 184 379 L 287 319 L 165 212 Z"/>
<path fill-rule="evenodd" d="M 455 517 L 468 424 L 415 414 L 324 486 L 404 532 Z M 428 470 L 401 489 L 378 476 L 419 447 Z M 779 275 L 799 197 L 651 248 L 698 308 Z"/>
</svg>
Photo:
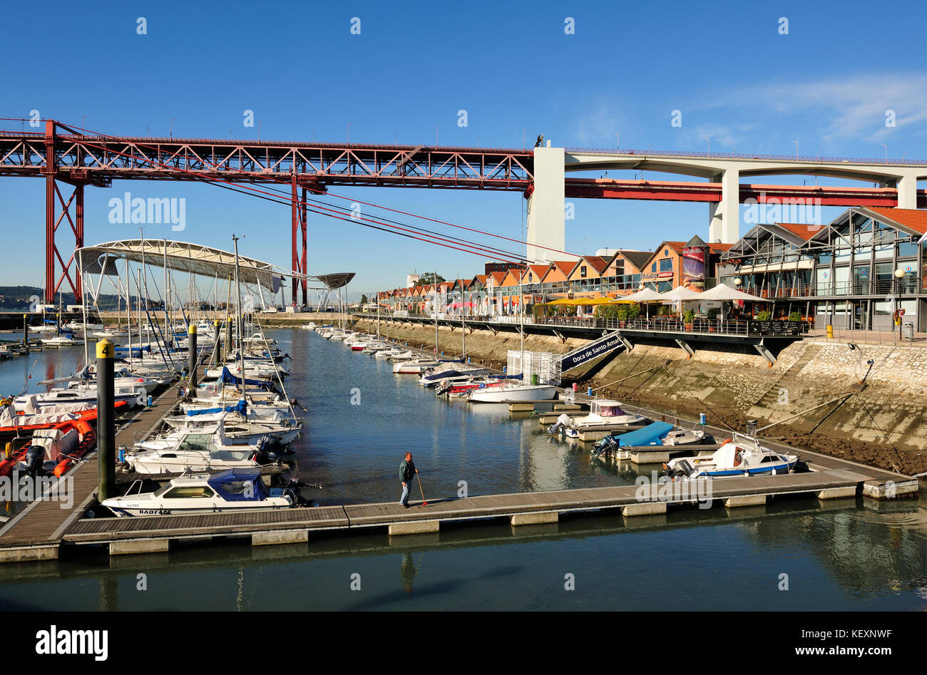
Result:
<svg viewBox="0 0 927 675">
<path fill-rule="evenodd" d="M 796 493 L 816 494 L 821 490 L 849 489 L 855 493 L 868 477 L 840 469 L 818 473 L 756 478 L 724 478 L 704 481 L 698 494 L 715 500 Z M 157 516 L 88 518 L 74 522 L 62 535 L 74 543 L 108 543 L 146 539 L 186 539 L 230 534 L 261 534 L 273 531 L 319 531 L 387 527 L 417 521 L 493 518 L 570 511 L 622 508 L 641 503 L 680 504 L 698 499 L 698 481 L 677 481 L 666 485 L 626 485 L 580 490 L 515 492 L 466 498 L 438 499 L 411 503 L 349 504 L 202 516 Z M 710 491 L 707 484 L 710 483 Z M 643 491 L 641 491 L 643 490 Z M 438 529 L 437 526 L 434 529 Z"/>
</svg>

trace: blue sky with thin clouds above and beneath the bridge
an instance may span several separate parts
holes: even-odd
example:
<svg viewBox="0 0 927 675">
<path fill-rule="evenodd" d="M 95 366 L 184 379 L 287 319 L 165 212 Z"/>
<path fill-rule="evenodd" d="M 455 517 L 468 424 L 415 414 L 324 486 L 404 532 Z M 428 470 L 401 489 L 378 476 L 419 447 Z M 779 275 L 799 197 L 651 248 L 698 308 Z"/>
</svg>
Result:
<svg viewBox="0 0 927 675">
<path fill-rule="evenodd" d="M 357 143 L 554 145 L 927 159 L 925 3 L 44 2 L 5 7 L 0 116 L 106 134 Z M 136 32 L 146 19 L 147 33 Z M 351 19 L 361 34 L 351 34 Z M 565 19 L 575 33 L 565 33 Z M 780 19 L 788 19 L 781 34 Z M 32 27 L 32 28 L 29 28 Z M 457 111 L 467 111 L 467 126 Z M 670 125 L 671 111 L 682 126 Z M 884 111 L 897 123 L 887 128 Z M 86 118 L 84 118 L 86 116 Z M 19 128 L 16 122 L 0 128 Z M 28 127 L 27 127 L 28 128 Z M 630 173 L 610 172 L 610 177 Z M 663 180 L 685 180 L 648 173 Z M 804 177 L 764 179 L 801 185 Z M 839 185 L 834 179 L 823 184 Z M 860 185 L 847 183 L 846 185 Z M 923 187 L 923 185 L 921 185 Z M 138 235 L 108 199 L 184 197 L 186 230 L 146 236 L 231 248 L 289 266 L 289 210 L 208 185 L 87 188 L 88 244 Z M 349 188 L 338 194 L 523 238 L 517 193 Z M 705 204 L 575 200 L 566 248 L 654 248 L 707 236 Z M 824 217 L 840 209 L 825 210 Z M 413 269 L 482 271 L 470 254 L 310 217 L 310 274 L 357 272 L 352 294 Z M 742 233 L 745 231 L 742 223 Z M 0 180 L 0 285 L 40 285 L 44 183 Z M 514 244 L 511 247 L 514 248 Z M 15 251 L 15 255 L 11 254 Z"/>
</svg>

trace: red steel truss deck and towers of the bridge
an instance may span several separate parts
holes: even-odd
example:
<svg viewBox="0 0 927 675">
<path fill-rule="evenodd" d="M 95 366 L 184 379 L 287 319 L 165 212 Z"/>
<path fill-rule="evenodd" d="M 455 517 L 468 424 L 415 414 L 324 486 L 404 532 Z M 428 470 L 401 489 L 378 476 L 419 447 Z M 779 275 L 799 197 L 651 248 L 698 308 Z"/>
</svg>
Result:
<svg viewBox="0 0 927 675">
<path fill-rule="evenodd" d="M 299 287 L 305 304 L 310 192 L 324 194 L 330 185 L 358 185 L 508 190 L 530 197 L 533 174 L 534 148 L 117 137 L 83 134 L 53 120 L 45 121 L 44 133 L 0 132 L 0 176 L 45 179 L 45 302 L 53 301 L 64 282 L 78 301 L 82 297 L 80 275 L 71 275 L 74 256 L 71 253 L 66 261 L 56 241 L 67 221 L 74 249 L 83 247 L 85 185 L 109 187 L 114 179 L 289 185 L 293 301 Z M 70 192 L 62 190 L 62 184 L 70 186 Z M 721 188 L 712 182 L 565 178 L 566 198 L 718 202 Z M 834 206 L 897 204 L 897 191 L 891 187 L 742 184 L 739 191 L 742 201 L 782 203 L 811 197 Z M 918 207 L 927 206 L 925 191 L 918 190 L 917 201 Z"/>
</svg>

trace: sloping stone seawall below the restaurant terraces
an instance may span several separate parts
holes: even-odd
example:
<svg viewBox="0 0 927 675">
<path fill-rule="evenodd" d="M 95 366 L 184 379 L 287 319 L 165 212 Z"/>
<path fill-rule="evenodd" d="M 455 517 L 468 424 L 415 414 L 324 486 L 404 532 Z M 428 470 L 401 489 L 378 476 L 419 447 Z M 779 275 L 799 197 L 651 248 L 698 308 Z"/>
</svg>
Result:
<svg viewBox="0 0 927 675">
<path fill-rule="evenodd" d="M 359 322 L 359 327 L 373 331 L 375 321 Z M 380 332 L 434 349 L 433 326 L 381 321 Z M 460 355 L 461 336 L 460 327 L 439 327 L 438 350 Z M 585 343 L 525 337 L 525 349 L 531 351 L 565 353 Z M 520 344 L 516 333 L 474 330 L 466 335 L 467 356 L 500 369 L 508 350 Z M 690 358 L 677 347 L 638 343 L 612 357 L 594 377 L 576 377 L 599 395 L 661 413 L 690 419 L 705 413 L 710 423 L 735 430 L 743 430 L 747 419 L 756 419 L 758 427 L 777 423 L 763 435 L 908 475 L 927 471 L 927 349 L 851 349 L 846 343 L 805 340 L 782 350 L 768 367 L 752 347 L 696 348 Z"/>
</svg>

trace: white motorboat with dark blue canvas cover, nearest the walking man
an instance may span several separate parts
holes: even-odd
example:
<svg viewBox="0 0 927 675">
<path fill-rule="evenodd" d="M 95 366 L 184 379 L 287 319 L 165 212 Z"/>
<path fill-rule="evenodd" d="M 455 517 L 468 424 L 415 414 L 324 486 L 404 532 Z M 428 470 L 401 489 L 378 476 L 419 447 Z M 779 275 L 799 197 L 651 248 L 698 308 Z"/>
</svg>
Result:
<svg viewBox="0 0 927 675">
<path fill-rule="evenodd" d="M 142 481 L 135 486 L 141 490 Z M 126 494 L 103 501 L 118 517 L 213 514 L 289 508 L 298 503 L 291 488 L 268 489 L 259 469 L 233 469 L 216 474 L 193 474 L 171 481 L 154 492 Z"/>
</svg>

